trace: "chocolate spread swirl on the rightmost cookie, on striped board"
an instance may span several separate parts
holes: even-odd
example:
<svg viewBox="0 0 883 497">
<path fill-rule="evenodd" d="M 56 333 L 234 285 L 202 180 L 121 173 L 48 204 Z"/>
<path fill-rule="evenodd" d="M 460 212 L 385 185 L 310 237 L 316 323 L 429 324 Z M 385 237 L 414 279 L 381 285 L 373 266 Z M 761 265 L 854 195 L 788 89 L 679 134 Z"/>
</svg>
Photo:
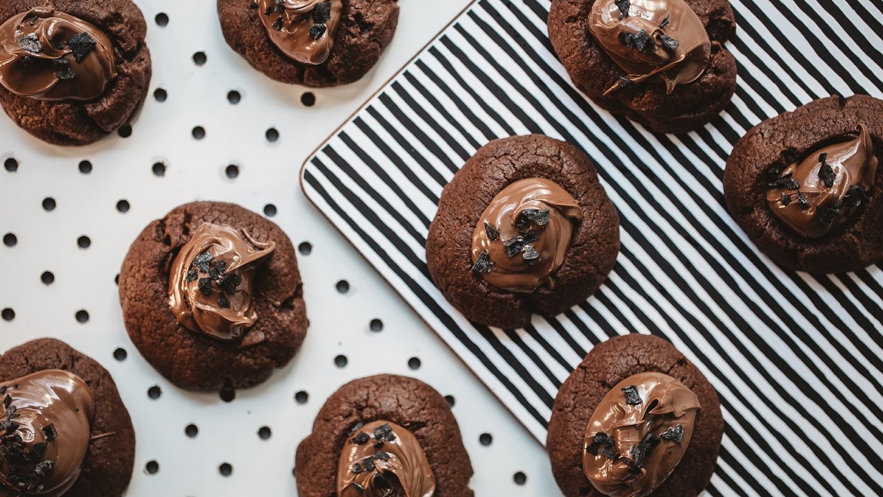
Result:
<svg viewBox="0 0 883 497">
<path fill-rule="evenodd" d="M 776 218 L 806 238 L 819 238 L 855 214 L 871 193 L 879 162 L 868 128 L 858 125 L 857 132 L 781 172 L 770 170 L 766 202 Z"/>
</svg>

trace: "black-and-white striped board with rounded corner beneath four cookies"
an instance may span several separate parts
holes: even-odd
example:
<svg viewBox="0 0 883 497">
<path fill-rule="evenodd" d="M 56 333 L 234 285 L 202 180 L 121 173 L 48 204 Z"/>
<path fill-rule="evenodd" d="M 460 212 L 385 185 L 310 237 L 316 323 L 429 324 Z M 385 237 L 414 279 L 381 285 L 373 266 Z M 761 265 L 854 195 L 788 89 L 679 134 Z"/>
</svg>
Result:
<svg viewBox="0 0 883 497">
<path fill-rule="evenodd" d="M 736 96 L 691 134 L 658 135 L 574 89 L 547 0 L 480 0 L 306 164 L 306 194 L 538 439 L 592 345 L 671 340 L 721 395 L 713 495 L 883 494 L 883 271 L 782 271 L 723 203 L 724 163 L 766 119 L 839 93 L 883 97 L 876 0 L 737 0 Z M 494 138 L 585 149 L 622 218 L 608 283 L 524 330 L 470 324 L 428 278 L 442 187 Z"/>
</svg>

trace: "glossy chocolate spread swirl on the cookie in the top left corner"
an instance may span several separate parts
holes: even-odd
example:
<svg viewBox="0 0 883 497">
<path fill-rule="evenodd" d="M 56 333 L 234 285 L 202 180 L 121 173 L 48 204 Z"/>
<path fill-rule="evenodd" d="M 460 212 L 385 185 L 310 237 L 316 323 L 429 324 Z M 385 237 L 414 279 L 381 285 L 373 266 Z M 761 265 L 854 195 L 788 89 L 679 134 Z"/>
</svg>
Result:
<svg viewBox="0 0 883 497">
<path fill-rule="evenodd" d="M 0 26 L 0 83 L 36 100 L 93 100 L 116 77 L 102 30 L 51 4 Z"/>
</svg>

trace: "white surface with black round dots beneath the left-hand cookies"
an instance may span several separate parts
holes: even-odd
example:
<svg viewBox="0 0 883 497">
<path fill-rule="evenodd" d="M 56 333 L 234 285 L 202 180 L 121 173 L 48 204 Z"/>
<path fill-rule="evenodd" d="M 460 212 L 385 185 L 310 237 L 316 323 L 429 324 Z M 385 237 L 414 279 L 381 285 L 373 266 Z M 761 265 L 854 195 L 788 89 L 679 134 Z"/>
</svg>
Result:
<svg viewBox="0 0 883 497">
<path fill-rule="evenodd" d="M 131 127 L 61 148 L 0 117 L 0 349 L 55 337 L 109 370 L 137 434 L 129 496 L 295 495 L 294 451 L 322 402 L 381 372 L 420 378 L 448 397 L 477 495 L 558 495 L 540 445 L 298 186 L 313 149 L 468 2 L 400 0 L 398 31 L 378 67 L 330 89 L 257 73 L 223 42 L 214 2 L 137 3 L 154 77 Z M 117 298 L 135 236 L 194 200 L 262 213 L 298 248 L 311 322 L 304 346 L 233 399 L 161 378 L 128 339 Z"/>
</svg>

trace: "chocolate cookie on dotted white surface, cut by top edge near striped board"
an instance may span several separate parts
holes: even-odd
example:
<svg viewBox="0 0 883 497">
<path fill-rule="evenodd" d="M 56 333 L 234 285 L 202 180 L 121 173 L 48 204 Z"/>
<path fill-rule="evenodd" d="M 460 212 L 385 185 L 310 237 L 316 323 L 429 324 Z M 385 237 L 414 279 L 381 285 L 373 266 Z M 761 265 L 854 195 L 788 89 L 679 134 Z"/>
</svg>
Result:
<svg viewBox="0 0 883 497">
<path fill-rule="evenodd" d="M 396 0 L 218 0 L 224 39 L 283 83 L 333 87 L 359 80 L 398 24 Z"/>
</svg>

